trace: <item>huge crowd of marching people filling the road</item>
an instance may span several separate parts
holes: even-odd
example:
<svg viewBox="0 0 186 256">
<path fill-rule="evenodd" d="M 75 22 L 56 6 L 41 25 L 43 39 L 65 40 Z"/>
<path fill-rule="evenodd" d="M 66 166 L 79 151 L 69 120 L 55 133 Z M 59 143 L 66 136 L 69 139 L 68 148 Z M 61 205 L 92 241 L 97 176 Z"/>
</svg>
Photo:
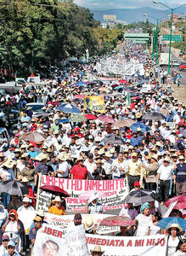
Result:
<svg viewBox="0 0 186 256">
<path fill-rule="evenodd" d="M 154 68 L 149 55 L 140 46 L 135 52 L 128 50 L 127 55 L 144 61 L 146 71 L 142 76 L 136 73 L 122 83 L 90 82 L 87 72 L 95 73 L 93 62 L 56 70 L 41 91 L 33 85 L 1 99 L 1 104 L 9 108 L 11 104 L 18 106 L 20 125 L 10 141 L 0 139 L 0 178 L 2 182 L 20 181 L 26 188 L 22 196 L 2 193 L 1 256 L 29 255 L 37 230 L 45 223 L 44 212 L 36 211 L 40 175 L 89 180 L 126 178 L 129 195 L 153 191 L 151 201 L 125 201 L 118 215 L 130 218 L 132 224 L 121 226 L 116 236 L 166 234 L 167 255 L 186 255 L 185 104 L 161 87 L 161 72 Z M 147 83 L 150 90 L 140 92 L 136 84 L 141 82 Z M 116 92 L 114 84 L 121 84 L 124 90 Z M 105 113 L 84 108 L 88 95 L 104 96 Z M 31 102 L 45 104 L 40 115 L 26 106 Z M 34 133 L 36 136 L 31 137 Z M 182 218 L 183 226 L 176 222 L 161 228 L 158 223 L 164 217 L 162 209 L 165 211 L 169 198 L 176 195 L 183 197 L 185 207 L 174 207 L 170 217 Z M 65 210 L 65 199 L 56 195 L 48 212 L 65 215 Z M 87 201 L 86 212 L 105 212 L 98 196 Z M 82 224 L 81 213 L 76 213 L 74 224 Z M 90 225 L 85 230 L 96 234 Z M 97 246 L 91 254 L 104 252 Z"/>
</svg>

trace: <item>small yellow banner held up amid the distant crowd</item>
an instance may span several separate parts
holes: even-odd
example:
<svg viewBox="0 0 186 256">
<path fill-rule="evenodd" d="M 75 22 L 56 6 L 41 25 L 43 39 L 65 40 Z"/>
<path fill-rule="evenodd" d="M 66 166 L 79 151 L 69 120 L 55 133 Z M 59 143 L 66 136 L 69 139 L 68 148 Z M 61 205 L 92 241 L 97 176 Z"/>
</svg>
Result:
<svg viewBox="0 0 186 256">
<path fill-rule="evenodd" d="M 104 96 L 86 96 L 84 109 L 105 113 Z"/>
</svg>

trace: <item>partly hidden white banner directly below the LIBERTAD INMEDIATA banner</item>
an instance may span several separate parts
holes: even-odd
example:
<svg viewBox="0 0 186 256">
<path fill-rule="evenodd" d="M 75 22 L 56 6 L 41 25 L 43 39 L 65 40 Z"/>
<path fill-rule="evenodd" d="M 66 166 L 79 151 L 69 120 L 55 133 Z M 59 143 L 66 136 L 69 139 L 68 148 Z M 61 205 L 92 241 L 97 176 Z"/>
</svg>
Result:
<svg viewBox="0 0 186 256">
<path fill-rule="evenodd" d="M 99 226 L 104 218 L 114 216 L 110 214 L 82 214 L 82 224 L 86 224 L 87 218 L 93 219 L 93 224 L 98 234 L 109 234 L 112 232 L 118 232 L 119 228 L 116 226 Z M 67 228 L 69 225 L 74 224 L 73 215 L 55 215 L 45 212 L 44 220 L 48 224 L 59 226 L 61 229 Z"/>
</svg>

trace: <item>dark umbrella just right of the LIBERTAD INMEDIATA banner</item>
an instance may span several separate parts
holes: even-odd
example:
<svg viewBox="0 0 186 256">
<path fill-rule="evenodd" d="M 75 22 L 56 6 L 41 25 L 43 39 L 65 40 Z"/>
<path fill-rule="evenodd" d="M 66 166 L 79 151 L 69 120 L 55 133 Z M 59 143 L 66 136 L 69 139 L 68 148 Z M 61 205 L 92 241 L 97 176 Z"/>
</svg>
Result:
<svg viewBox="0 0 186 256">
<path fill-rule="evenodd" d="M 141 206 L 148 201 L 155 201 L 155 193 L 147 189 L 132 191 L 125 198 L 125 202 L 134 203 L 135 206 Z"/>
</svg>

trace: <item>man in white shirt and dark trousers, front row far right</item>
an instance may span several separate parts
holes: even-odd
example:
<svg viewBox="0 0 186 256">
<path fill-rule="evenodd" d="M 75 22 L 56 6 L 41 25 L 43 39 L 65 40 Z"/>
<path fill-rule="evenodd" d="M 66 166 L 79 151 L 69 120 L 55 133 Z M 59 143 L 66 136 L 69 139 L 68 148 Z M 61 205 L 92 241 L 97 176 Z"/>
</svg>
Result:
<svg viewBox="0 0 186 256">
<path fill-rule="evenodd" d="M 159 195 L 161 198 L 161 205 L 163 205 L 163 202 L 168 200 L 169 197 L 170 183 L 173 173 L 173 166 L 170 164 L 170 161 L 170 158 L 166 157 L 157 171 L 156 183 L 157 186 L 160 183 Z"/>
</svg>

